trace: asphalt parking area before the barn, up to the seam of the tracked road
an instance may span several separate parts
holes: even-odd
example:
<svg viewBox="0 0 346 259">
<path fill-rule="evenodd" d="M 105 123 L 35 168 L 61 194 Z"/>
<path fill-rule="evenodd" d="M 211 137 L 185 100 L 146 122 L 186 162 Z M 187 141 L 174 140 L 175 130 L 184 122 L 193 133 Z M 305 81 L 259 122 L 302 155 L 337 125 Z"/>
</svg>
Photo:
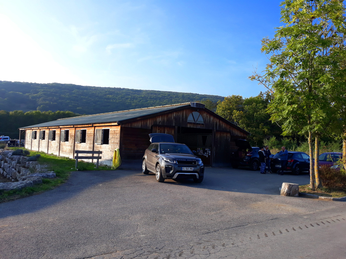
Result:
<svg viewBox="0 0 346 259">
<path fill-rule="evenodd" d="M 0 204 L 0 258 L 89 258 L 340 206 L 280 196 L 309 175 L 207 168 L 157 183 L 140 170 L 73 172 L 45 193 Z"/>
</svg>

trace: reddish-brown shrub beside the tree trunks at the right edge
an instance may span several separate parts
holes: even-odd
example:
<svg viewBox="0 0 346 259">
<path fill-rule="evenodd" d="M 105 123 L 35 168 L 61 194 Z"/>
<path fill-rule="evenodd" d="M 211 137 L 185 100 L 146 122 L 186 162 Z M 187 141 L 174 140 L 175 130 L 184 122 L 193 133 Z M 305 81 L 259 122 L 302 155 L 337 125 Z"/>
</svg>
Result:
<svg viewBox="0 0 346 259">
<path fill-rule="evenodd" d="M 322 165 L 320 168 L 322 186 L 328 189 L 346 188 L 346 176 L 342 170 L 330 168 L 330 165 Z"/>
</svg>

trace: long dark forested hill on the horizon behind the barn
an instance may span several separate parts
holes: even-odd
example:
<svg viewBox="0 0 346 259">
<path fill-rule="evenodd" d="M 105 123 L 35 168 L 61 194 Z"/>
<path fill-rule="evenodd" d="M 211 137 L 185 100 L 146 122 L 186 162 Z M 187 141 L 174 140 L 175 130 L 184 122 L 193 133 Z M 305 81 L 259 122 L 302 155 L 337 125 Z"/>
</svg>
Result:
<svg viewBox="0 0 346 259">
<path fill-rule="evenodd" d="M 97 114 L 224 97 L 128 88 L 0 81 L 0 110 Z"/>
</svg>

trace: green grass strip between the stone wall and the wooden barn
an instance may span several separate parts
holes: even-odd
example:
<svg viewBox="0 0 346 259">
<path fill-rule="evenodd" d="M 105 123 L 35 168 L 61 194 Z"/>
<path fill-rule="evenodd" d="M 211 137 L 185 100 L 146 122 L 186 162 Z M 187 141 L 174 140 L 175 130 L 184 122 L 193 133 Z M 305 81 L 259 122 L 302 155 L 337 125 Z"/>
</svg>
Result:
<svg viewBox="0 0 346 259">
<path fill-rule="evenodd" d="M 18 149 L 18 147 L 11 148 L 12 150 Z M 22 148 L 21 149 L 25 149 Z M 23 198 L 29 195 L 38 194 L 47 190 L 52 190 L 57 186 L 65 183 L 69 179 L 72 171 L 76 171 L 74 159 L 68 157 L 60 157 L 56 155 L 49 155 L 44 152 L 30 151 L 29 156 L 39 154 L 41 155 L 38 159 L 38 163 L 45 165 L 48 171 L 54 171 L 56 178 L 42 179 L 42 184 L 36 184 L 31 187 L 23 188 L 22 190 L 13 190 L 7 192 L 0 191 L 0 202 L 12 201 L 18 198 Z M 79 171 L 93 171 L 93 170 L 112 170 L 110 166 L 99 165 L 99 168 L 95 168 L 96 165 L 84 161 L 78 161 Z"/>
</svg>

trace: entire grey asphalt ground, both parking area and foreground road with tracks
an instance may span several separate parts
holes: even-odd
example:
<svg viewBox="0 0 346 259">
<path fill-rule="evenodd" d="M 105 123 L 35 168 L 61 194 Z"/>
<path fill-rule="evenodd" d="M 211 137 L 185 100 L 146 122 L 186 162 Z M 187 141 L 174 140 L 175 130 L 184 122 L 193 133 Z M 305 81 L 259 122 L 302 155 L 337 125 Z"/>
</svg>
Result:
<svg viewBox="0 0 346 259">
<path fill-rule="evenodd" d="M 346 258 L 345 203 L 283 197 L 282 182 L 309 176 L 207 168 L 198 184 L 74 172 L 0 204 L 0 258 Z"/>
</svg>

